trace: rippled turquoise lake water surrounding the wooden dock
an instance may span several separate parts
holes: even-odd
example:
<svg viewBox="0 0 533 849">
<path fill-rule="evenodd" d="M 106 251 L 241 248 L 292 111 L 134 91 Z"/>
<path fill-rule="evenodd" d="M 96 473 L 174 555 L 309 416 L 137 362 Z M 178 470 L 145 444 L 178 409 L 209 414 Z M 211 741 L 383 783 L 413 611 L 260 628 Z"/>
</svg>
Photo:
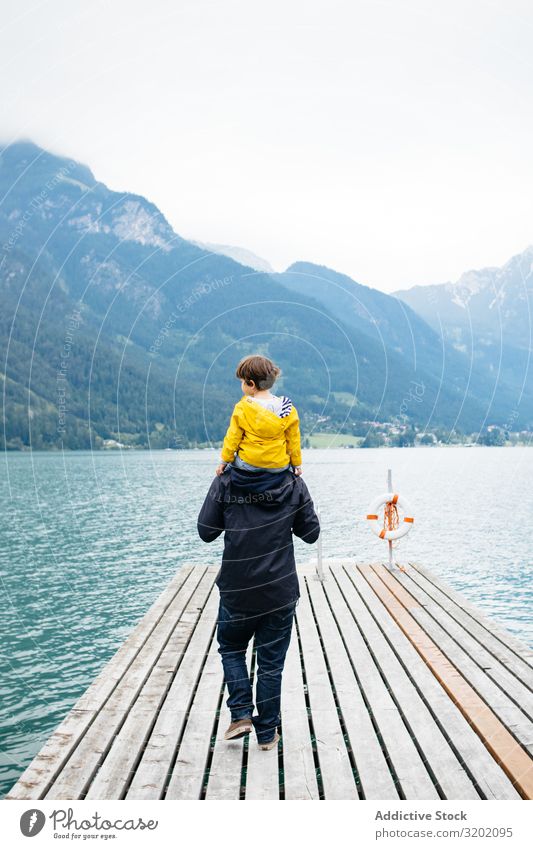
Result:
<svg viewBox="0 0 533 849">
<path fill-rule="evenodd" d="M 185 561 L 217 562 L 196 535 L 214 451 L 7 454 L 1 461 L 4 795 Z M 325 557 L 376 560 L 364 520 L 387 468 L 415 526 L 397 549 L 533 646 L 533 449 L 304 452 Z M 296 543 L 297 557 L 316 546 Z"/>
</svg>

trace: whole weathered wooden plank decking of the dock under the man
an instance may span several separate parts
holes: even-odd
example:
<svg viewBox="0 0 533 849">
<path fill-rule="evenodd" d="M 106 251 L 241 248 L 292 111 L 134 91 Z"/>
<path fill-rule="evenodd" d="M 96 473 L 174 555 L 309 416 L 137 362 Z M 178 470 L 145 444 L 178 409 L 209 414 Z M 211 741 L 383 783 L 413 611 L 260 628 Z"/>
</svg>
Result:
<svg viewBox="0 0 533 849">
<path fill-rule="evenodd" d="M 223 739 L 218 567 L 187 565 L 6 798 L 533 798 L 533 652 L 419 566 L 324 568 L 299 569 L 278 750 Z"/>
</svg>

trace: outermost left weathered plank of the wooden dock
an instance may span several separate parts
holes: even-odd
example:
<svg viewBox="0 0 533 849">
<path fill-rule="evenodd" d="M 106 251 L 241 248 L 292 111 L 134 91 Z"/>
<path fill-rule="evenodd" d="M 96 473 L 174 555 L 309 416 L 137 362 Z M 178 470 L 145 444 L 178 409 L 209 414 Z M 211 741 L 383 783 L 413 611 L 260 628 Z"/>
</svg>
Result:
<svg viewBox="0 0 533 849">
<path fill-rule="evenodd" d="M 106 663 L 99 675 L 80 696 L 74 707 L 50 735 L 42 749 L 13 785 L 6 799 L 43 799 L 52 782 L 75 751 L 80 740 L 141 652 L 168 607 L 181 594 L 190 592 L 204 567 L 184 564 L 170 584 L 154 601 L 126 641 Z"/>
</svg>

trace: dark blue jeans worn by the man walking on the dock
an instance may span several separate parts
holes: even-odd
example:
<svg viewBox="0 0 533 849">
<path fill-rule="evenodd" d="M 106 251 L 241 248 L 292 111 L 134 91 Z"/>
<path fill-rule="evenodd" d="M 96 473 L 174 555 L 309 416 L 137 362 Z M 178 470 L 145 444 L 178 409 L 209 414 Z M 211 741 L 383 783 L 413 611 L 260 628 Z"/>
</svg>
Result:
<svg viewBox="0 0 533 849">
<path fill-rule="evenodd" d="M 281 720 L 281 674 L 291 641 L 298 601 L 270 613 L 251 614 L 228 609 L 220 601 L 217 640 L 222 657 L 226 702 L 231 721 L 252 717 L 252 686 L 246 668 L 246 650 L 255 634 L 257 715 L 252 722 L 259 743 L 269 743 Z"/>
</svg>

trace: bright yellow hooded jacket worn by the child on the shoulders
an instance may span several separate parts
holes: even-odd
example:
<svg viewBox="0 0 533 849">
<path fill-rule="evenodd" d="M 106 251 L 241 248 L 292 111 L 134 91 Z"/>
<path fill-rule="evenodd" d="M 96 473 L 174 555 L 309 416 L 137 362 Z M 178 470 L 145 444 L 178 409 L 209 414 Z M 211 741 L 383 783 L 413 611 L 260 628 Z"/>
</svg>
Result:
<svg viewBox="0 0 533 849">
<path fill-rule="evenodd" d="M 235 404 L 230 425 L 222 446 L 222 460 L 231 463 L 235 452 L 245 463 L 264 469 L 276 469 L 302 462 L 300 449 L 300 420 L 291 404 L 288 416 L 280 418 L 243 395 Z"/>
</svg>

